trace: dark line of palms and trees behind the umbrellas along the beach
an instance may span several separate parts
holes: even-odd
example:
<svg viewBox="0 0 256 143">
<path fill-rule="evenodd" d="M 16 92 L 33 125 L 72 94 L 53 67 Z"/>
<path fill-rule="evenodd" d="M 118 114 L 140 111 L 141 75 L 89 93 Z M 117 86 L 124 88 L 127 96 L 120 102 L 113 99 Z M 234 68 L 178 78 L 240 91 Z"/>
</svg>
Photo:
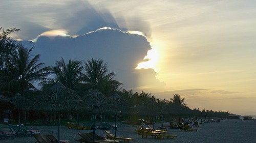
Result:
<svg viewBox="0 0 256 143">
<path fill-rule="evenodd" d="M 0 28 L 2 30 L 2 27 Z M 114 79 L 115 73 L 108 72 L 107 63 L 102 59 L 69 60 L 61 58 L 55 66 L 45 67 L 40 63 L 40 54 L 31 56 L 34 47 L 28 49 L 21 43 L 12 40 L 9 34 L 19 29 L 11 28 L 0 34 L 0 92 L 14 95 L 20 93 L 26 98 L 26 91 L 45 91 L 57 82 L 76 91 L 80 96 L 92 90 L 98 90 L 108 98 L 117 100 L 120 110 L 144 112 L 150 115 L 187 114 L 192 110 L 184 102 L 184 98 L 174 94 L 169 100 L 158 99 L 150 93 L 141 93 L 123 89 L 123 83 Z M 34 83 L 38 82 L 41 89 L 37 90 Z M 115 98 L 115 99 L 114 99 Z M 141 110 L 143 106 L 154 107 L 150 111 Z M 227 117 L 227 111 L 201 111 L 205 117 Z"/>
</svg>

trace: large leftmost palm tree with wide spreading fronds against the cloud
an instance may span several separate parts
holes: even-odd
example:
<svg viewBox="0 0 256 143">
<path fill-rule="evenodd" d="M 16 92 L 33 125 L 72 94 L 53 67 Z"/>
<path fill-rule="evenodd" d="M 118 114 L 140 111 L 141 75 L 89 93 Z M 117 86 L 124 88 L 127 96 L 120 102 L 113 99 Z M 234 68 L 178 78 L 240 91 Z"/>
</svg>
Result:
<svg viewBox="0 0 256 143">
<path fill-rule="evenodd" d="M 6 71 L 11 76 L 10 83 L 18 84 L 21 95 L 25 97 L 25 90 L 36 90 L 33 82 L 46 80 L 50 73 L 49 67 L 44 67 L 44 63 L 39 63 L 40 55 L 36 54 L 31 59 L 31 49 L 26 49 L 20 43 L 17 49 L 11 54 L 10 60 L 6 61 Z M 24 122 L 26 123 L 26 115 L 24 114 Z"/>
</svg>

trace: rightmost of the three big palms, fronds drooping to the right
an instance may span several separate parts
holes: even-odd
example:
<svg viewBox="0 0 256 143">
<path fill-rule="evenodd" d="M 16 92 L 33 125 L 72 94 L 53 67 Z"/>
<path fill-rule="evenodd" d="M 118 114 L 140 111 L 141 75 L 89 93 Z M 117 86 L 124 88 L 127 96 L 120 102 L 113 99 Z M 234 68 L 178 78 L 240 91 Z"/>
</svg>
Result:
<svg viewBox="0 0 256 143">
<path fill-rule="evenodd" d="M 103 60 L 96 61 L 92 58 L 91 61 L 84 61 L 84 64 L 86 72 L 84 81 L 89 83 L 91 89 L 106 94 L 109 91 L 114 92 L 122 84 L 113 80 L 116 74 L 114 72 L 108 73 L 107 63 L 103 63 Z"/>
</svg>

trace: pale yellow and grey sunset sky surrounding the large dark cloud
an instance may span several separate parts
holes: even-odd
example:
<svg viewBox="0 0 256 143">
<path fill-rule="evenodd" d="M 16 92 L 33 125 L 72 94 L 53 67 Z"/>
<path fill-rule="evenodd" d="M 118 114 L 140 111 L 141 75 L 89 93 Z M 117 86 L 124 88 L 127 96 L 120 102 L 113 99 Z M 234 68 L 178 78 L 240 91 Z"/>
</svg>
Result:
<svg viewBox="0 0 256 143">
<path fill-rule="evenodd" d="M 192 109 L 256 115 L 254 0 L 3 0 L 0 13 L 0 27 L 21 30 L 11 35 L 18 40 L 78 37 L 112 26 L 145 36 L 152 49 L 137 69 L 154 69 L 164 85 L 134 91 L 168 100 L 180 94 Z"/>
</svg>

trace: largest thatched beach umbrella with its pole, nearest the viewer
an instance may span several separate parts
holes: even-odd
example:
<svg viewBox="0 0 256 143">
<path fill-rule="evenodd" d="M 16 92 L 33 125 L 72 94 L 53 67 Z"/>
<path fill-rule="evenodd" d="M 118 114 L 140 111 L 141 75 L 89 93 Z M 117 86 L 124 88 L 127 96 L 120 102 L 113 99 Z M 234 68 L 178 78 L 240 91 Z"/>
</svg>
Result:
<svg viewBox="0 0 256 143">
<path fill-rule="evenodd" d="M 83 109 L 82 100 L 75 91 L 66 88 L 61 82 L 55 83 L 47 91 L 43 92 L 36 99 L 37 110 L 52 111 L 58 113 L 58 143 L 59 143 L 59 122 L 61 111 L 80 111 Z"/>
</svg>

